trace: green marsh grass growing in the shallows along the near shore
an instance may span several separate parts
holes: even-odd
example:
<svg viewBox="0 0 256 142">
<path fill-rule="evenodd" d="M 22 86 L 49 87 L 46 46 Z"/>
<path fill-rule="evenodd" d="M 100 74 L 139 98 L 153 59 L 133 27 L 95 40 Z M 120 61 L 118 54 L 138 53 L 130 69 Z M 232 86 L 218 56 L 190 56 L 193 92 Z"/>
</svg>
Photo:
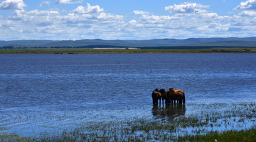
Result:
<svg viewBox="0 0 256 142">
<path fill-rule="evenodd" d="M 57 136 L 0 134 L 0 141 L 256 141 L 255 105 L 198 105 L 198 111 L 175 119 L 85 122 Z"/>
</svg>

